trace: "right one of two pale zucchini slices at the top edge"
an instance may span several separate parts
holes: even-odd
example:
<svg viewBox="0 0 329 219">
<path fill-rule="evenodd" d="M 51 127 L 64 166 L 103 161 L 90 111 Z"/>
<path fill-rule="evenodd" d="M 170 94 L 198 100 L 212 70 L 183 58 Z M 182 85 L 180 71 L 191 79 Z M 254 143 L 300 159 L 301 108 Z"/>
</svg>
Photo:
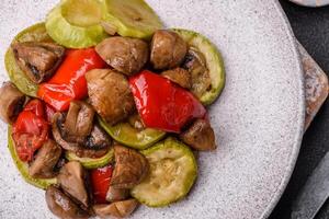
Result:
<svg viewBox="0 0 329 219">
<path fill-rule="evenodd" d="M 117 28 L 121 36 L 148 39 L 162 23 L 155 11 L 144 0 L 104 0 L 105 21 Z"/>
</svg>

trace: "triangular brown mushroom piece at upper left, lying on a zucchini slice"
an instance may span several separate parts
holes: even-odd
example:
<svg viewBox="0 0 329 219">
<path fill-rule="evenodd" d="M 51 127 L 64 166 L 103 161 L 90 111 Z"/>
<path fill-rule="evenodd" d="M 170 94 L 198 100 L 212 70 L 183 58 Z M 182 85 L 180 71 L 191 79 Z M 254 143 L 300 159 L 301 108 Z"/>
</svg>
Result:
<svg viewBox="0 0 329 219">
<path fill-rule="evenodd" d="M 14 43 L 11 47 L 19 67 L 35 83 L 49 79 L 65 54 L 65 48 L 54 43 Z"/>
</svg>

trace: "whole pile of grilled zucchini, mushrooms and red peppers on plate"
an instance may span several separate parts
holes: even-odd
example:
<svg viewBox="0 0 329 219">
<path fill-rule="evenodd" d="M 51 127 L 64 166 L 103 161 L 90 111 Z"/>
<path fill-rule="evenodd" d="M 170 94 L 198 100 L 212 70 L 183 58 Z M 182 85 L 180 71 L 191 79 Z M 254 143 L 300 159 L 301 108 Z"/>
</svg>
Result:
<svg viewBox="0 0 329 219">
<path fill-rule="evenodd" d="M 61 0 L 18 34 L 5 67 L 10 153 L 59 218 L 181 200 L 195 152 L 216 149 L 206 107 L 225 84 L 220 54 L 198 33 L 164 28 L 143 0 Z"/>
</svg>

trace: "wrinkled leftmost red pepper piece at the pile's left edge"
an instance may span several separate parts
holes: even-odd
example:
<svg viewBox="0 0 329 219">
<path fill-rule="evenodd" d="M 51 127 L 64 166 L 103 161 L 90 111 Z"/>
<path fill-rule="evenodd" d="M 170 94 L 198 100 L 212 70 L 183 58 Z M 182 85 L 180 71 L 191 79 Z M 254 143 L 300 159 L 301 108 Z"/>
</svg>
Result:
<svg viewBox="0 0 329 219">
<path fill-rule="evenodd" d="M 48 139 L 49 123 L 45 119 L 44 104 L 30 101 L 13 125 L 12 138 L 19 158 L 31 161 L 34 152 Z"/>
</svg>

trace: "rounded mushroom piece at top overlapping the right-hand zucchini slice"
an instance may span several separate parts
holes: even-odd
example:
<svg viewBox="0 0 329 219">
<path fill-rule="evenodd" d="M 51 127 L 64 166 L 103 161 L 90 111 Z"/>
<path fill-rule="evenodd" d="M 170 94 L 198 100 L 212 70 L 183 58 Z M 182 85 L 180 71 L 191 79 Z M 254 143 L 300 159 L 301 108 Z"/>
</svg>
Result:
<svg viewBox="0 0 329 219">
<path fill-rule="evenodd" d="M 150 62 L 155 69 L 172 69 L 180 66 L 188 45 L 177 33 L 159 30 L 151 41 Z"/>
</svg>

